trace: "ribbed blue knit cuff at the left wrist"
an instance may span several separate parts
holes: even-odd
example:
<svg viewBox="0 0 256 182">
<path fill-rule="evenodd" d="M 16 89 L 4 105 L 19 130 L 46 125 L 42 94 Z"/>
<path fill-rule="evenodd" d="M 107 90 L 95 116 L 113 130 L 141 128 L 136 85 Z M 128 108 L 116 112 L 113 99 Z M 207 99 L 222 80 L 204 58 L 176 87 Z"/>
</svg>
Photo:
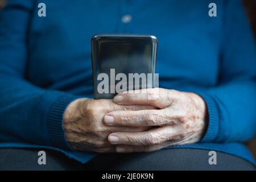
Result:
<svg viewBox="0 0 256 182">
<path fill-rule="evenodd" d="M 62 148 L 64 150 L 72 150 L 65 139 L 63 114 L 67 106 L 76 99 L 77 97 L 75 96 L 63 94 L 53 102 L 49 109 L 47 126 L 49 138 L 54 147 Z"/>
</svg>

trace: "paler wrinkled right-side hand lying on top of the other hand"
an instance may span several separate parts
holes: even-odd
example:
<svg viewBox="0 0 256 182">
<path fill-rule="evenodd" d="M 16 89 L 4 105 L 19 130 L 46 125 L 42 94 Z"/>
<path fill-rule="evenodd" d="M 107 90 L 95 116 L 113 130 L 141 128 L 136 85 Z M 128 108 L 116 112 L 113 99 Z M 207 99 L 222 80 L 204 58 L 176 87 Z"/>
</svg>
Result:
<svg viewBox="0 0 256 182">
<path fill-rule="evenodd" d="M 105 115 L 108 126 L 155 126 L 141 132 L 114 132 L 110 143 L 117 152 L 154 151 L 185 143 L 195 143 L 203 137 L 207 126 L 207 106 L 199 95 L 176 90 L 146 89 L 140 93 L 119 93 L 118 105 L 152 105 L 159 109 L 112 111 Z M 142 90 L 141 90 L 142 91 Z"/>
</svg>

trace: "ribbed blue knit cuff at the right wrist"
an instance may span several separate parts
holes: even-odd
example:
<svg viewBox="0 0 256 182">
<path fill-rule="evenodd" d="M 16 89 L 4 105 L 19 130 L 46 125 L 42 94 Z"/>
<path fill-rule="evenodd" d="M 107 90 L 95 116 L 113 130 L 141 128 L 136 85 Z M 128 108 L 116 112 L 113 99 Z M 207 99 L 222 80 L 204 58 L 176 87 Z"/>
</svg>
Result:
<svg viewBox="0 0 256 182">
<path fill-rule="evenodd" d="M 208 114 L 209 114 L 209 123 L 207 132 L 204 135 L 203 139 L 200 142 L 213 142 L 218 135 L 218 125 L 219 125 L 219 113 L 218 106 L 216 101 L 205 93 L 197 93 L 199 94 L 207 104 Z"/>
</svg>

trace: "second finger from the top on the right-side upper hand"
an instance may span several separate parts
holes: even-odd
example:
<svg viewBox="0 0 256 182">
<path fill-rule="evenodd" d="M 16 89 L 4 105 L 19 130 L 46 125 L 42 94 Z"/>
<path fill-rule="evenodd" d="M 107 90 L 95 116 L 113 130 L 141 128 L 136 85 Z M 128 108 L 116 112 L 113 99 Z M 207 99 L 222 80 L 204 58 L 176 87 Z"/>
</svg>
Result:
<svg viewBox="0 0 256 182">
<path fill-rule="evenodd" d="M 166 110 L 112 111 L 105 115 L 109 126 L 159 126 L 176 121 L 178 114 Z"/>
</svg>

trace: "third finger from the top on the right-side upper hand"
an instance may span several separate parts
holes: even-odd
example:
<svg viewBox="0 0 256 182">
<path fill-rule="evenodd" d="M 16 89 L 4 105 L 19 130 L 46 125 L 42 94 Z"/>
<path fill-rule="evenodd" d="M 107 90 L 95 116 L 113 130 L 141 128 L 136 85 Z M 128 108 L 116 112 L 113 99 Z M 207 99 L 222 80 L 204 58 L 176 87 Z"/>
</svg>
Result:
<svg viewBox="0 0 256 182">
<path fill-rule="evenodd" d="M 166 126 L 136 133 L 115 132 L 109 135 L 108 140 L 112 144 L 150 146 L 168 141 L 177 133 L 176 130 L 175 126 Z"/>
</svg>

